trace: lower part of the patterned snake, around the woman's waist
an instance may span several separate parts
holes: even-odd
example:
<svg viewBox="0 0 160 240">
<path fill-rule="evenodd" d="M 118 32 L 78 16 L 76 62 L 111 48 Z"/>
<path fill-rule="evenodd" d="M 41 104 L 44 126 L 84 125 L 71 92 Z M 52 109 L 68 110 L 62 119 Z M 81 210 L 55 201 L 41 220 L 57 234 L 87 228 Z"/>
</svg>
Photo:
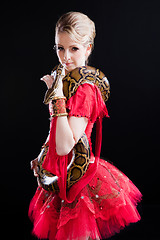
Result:
<svg viewBox="0 0 160 240">
<path fill-rule="evenodd" d="M 59 191 L 58 177 L 42 168 L 42 164 L 48 152 L 49 146 L 45 146 L 38 158 L 39 181 L 41 186 L 48 191 Z M 86 172 L 90 160 L 90 147 L 86 134 L 80 138 L 72 149 L 72 159 L 67 167 L 67 189 L 76 183 Z"/>
</svg>

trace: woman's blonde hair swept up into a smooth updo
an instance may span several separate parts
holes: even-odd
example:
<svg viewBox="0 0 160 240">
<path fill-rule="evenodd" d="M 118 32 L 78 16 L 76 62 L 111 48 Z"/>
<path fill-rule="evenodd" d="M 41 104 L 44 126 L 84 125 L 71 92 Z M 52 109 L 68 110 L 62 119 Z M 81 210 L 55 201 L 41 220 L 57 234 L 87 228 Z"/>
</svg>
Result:
<svg viewBox="0 0 160 240">
<path fill-rule="evenodd" d="M 80 12 L 68 12 L 62 15 L 55 29 L 55 35 L 60 32 L 67 32 L 76 42 L 94 47 L 94 38 L 96 36 L 94 22 L 85 14 Z"/>
</svg>

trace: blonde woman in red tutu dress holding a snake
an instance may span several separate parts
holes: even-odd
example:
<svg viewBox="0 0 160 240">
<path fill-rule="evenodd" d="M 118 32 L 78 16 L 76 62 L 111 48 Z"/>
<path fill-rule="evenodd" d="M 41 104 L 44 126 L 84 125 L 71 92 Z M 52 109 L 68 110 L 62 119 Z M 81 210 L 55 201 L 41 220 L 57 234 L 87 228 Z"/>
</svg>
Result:
<svg viewBox="0 0 160 240">
<path fill-rule="evenodd" d="M 94 38 L 95 25 L 84 14 L 69 12 L 58 20 L 55 49 L 59 62 L 64 66 L 64 75 L 87 65 Z M 136 204 L 141 200 L 141 193 L 127 176 L 99 158 L 101 121 L 102 117 L 108 117 L 99 88 L 89 82 L 80 84 L 65 102 L 62 78 L 54 93 L 54 103 L 49 102 L 52 116 L 46 140 L 49 150 L 43 162 L 44 169 L 59 177 L 59 191 L 46 191 L 39 184 L 29 209 L 34 222 L 33 234 L 50 240 L 108 238 L 129 223 L 140 220 Z M 41 80 L 51 89 L 55 78 L 46 75 Z M 59 105 L 61 110 L 57 107 Z M 58 114 L 55 114 L 55 109 L 58 109 Z M 90 137 L 95 121 L 94 156 Z M 89 166 L 81 179 L 67 188 L 67 164 L 74 146 L 84 134 L 90 145 Z M 39 176 L 37 162 L 38 158 L 31 162 L 36 177 Z"/>
</svg>

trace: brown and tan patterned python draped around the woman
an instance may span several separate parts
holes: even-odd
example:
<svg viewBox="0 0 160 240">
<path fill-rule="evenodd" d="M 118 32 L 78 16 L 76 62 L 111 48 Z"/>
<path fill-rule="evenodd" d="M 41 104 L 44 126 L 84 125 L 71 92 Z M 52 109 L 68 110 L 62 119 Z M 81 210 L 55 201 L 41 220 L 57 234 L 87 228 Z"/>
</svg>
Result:
<svg viewBox="0 0 160 240">
<path fill-rule="evenodd" d="M 55 82 L 52 87 L 47 90 L 44 98 L 44 103 L 48 104 L 53 98 L 55 92 L 55 86 L 58 85 L 59 77 L 64 69 L 62 64 L 56 66 L 51 74 L 55 71 L 58 73 L 56 75 Z M 74 70 L 68 72 L 66 76 L 63 77 L 63 93 L 67 100 L 69 100 L 77 91 L 81 84 L 95 84 L 101 91 L 102 98 L 106 102 L 110 95 L 110 85 L 109 81 L 102 71 L 91 66 L 82 66 L 75 68 Z M 41 149 L 38 157 L 38 179 L 39 183 L 47 191 L 58 192 L 58 177 L 42 167 L 49 149 L 49 145 L 45 144 Z M 67 166 L 67 184 L 66 188 L 69 190 L 73 184 L 78 182 L 85 174 L 88 169 L 90 162 L 90 146 L 88 138 L 85 133 L 75 144 L 72 149 L 72 158 Z"/>
</svg>

